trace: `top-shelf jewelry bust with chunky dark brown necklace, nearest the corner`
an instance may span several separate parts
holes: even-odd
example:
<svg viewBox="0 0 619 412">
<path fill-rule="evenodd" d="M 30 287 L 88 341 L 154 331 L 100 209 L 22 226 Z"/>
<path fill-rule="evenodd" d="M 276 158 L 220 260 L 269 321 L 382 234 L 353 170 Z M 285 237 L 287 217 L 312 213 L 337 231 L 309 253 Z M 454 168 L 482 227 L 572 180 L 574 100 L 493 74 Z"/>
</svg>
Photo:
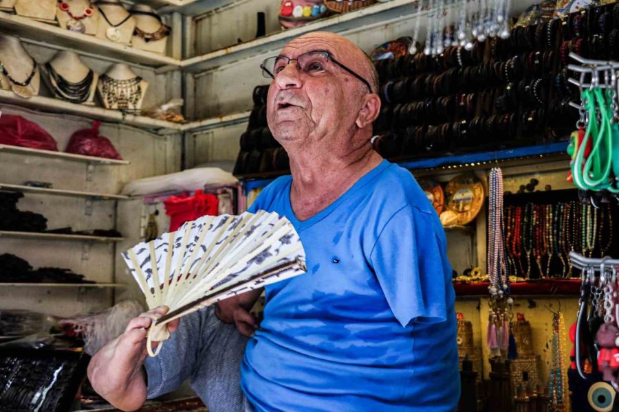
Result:
<svg viewBox="0 0 619 412">
<path fill-rule="evenodd" d="M 135 30 L 131 38 L 131 45 L 147 52 L 164 54 L 170 27 L 148 5 L 134 5 L 131 8 L 131 15 L 135 18 Z"/>
</svg>

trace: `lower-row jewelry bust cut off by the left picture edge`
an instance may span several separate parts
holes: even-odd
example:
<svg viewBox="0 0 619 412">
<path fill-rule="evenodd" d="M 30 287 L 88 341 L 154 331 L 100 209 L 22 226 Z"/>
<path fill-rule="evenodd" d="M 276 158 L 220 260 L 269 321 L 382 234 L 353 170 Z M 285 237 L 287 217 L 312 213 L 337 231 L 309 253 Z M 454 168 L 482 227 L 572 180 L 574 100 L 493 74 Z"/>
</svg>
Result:
<svg viewBox="0 0 619 412">
<path fill-rule="evenodd" d="M 34 58 L 23 48 L 19 38 L 0 35 L 0 87 L 12 90 L 22 98 L 39 95 L 41 73 Z"/>
</svg>

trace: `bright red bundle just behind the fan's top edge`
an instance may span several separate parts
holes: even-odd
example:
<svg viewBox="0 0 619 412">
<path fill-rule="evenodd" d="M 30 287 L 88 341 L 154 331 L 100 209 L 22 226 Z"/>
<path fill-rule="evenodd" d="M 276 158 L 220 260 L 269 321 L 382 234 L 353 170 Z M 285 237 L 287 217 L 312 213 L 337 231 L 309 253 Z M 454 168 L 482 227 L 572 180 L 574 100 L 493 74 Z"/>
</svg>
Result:
<svg viewBox="0 0 619 412">
<path fill-rule="evenodd" d="M 184 222 L 191 222 L 204 215 L 217 216 L 219 200 L 214 194 L 196 190 L 195 195 L 170 196 L 164 202 L 166 215 L 170 216 L 170 231 L 175 231 Z"/>
</svg>

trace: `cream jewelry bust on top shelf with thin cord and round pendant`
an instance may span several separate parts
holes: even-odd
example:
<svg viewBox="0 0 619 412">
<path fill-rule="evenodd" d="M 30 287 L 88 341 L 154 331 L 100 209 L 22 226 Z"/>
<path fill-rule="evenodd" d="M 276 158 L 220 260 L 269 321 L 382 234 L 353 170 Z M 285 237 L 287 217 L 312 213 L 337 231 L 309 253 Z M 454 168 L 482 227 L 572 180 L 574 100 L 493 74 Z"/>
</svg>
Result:
<svg viewBox="0 0 619 412">
<path fill-rule="evenodd" d="M 114 43 L 131 44 L 135 18 L 119 0 L 98 1 L 99 21 L 96 36 Z"/>
</svg>

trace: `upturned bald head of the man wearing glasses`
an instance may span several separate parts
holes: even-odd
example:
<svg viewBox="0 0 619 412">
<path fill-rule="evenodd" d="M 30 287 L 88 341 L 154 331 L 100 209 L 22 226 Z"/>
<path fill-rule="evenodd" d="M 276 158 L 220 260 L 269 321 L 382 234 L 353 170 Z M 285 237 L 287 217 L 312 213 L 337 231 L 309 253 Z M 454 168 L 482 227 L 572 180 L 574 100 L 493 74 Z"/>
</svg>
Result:
<svg viewBox="0 0 619 412">
<path fill-rule="evenodd" d="M 290 41 L 279 56 L 289 60 L 267 62 L 274 75 L 267 120 L 291 161 L 296 152 L 324 152 L 325 147 L 334 156 L 371 150 L 380 98 L 376 69 L 365 53 L 343 36 L 314 32 Z"/>
</svg>

